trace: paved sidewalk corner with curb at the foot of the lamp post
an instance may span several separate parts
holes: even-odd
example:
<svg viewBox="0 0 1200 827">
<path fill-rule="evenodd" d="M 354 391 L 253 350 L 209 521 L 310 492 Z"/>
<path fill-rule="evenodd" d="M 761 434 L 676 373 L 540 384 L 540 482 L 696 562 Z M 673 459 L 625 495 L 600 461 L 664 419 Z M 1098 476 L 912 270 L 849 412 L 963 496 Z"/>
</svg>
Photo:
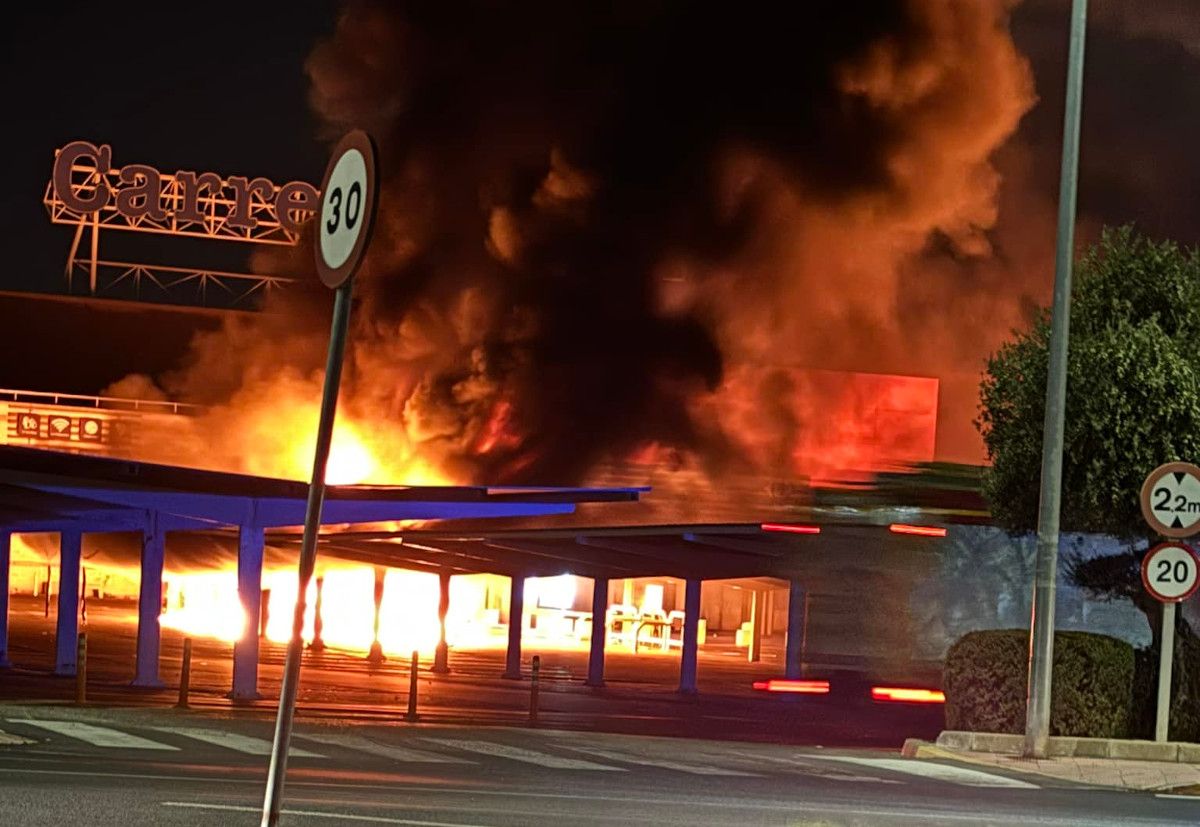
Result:
<svg viewBox="0 0 1200 827">
<path fill-rule="evenodd" d="M 964 736 L 986 737 L 977 739 Z M 1068 744 L 1060 743 L 1058 753 L 1070 751 L 1072 754 L 1026 759 L 1020 755 L 1020 747 L 1014 747 L 1022 741 L 1021 736 L 943 732 L 936 744 L 910 738 L 905 742 L 904 755 L 913 759 L 965 761 L 997 769 L 1045 775 L 1058 780 L 1117 790 L 1177 791 L 1200 795 L 1200 756 L 1193 761 L 1190 753 L 1186 754 L 1188 761 L 1180 760 L 1178 749 L 1175 750 L 1176 757 L 1172 760 L 1162 756 L 1157 756 L 1157 760 L 1147 760 L 1138 757 L 1138 747 L 1153 744 L 1153 742 L 1124 741 L 1120 743 L 1128 745 L 1128 748 L 1112 749 L 1112 743 L 1117 743 L 1116 739 L 1062 738 L 1060 739 L 1062 742 L 1112 742 L 1105 744 L 1105 754 L 1115 755 L 1112 757 L 1080 755 L 1075 750 L 1068 750 Z M 1180 747 L 1178 744 L 1172 745 Z M 1097 745 L 1087 744 L 1084 751 L 1094 747 Z M 1165 747 L 1165 744 L 1158 744 L 1158 747 Z M 1200 753 L 1200 747 L 1195 744 L 1183 744 L 1183 747 Z M 1094 751 L 1099 750 L 1093 749 Z M 1168 751 L 1170 750 L 1163 750 L 1163 755 Z M 1117 757 L 1117 755 L 1128 755 L 1128 757 Z"/>
</svg>

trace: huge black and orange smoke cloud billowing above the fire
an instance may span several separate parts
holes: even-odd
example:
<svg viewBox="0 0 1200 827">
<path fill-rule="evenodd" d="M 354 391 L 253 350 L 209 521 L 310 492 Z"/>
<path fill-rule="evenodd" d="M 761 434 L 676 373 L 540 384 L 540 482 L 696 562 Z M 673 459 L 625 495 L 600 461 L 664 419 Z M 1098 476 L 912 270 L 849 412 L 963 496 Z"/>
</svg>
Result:
<svg viewBox="0 0 1200 827">
<path fill-rule="evenodd" d="M 456 479 L 562 483 L 646 443 L 738 456 L 722 396 L 780 385 L 746 365 L 944 366 L 956 330 L 899 318 L 902 269 L 931 238 L 991 254 L 990 156 L 1032 102 L 1009 5 L 349 2 L 307 65 L 386 175 L 348 415 Z M 306 311 L 230 323 L 174 388 L 277 404 L 319 367 Z M 917 325 L 932 361 L 898 361 Z"/>
</svg>

